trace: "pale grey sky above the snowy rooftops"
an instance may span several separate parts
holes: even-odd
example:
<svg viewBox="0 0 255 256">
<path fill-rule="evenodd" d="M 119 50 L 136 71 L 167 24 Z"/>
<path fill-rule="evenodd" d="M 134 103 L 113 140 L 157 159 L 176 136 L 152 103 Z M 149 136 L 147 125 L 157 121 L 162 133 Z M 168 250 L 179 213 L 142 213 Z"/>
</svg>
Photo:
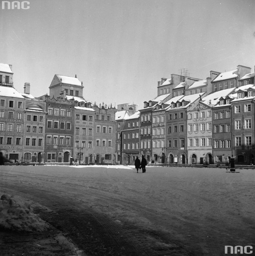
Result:
<svg viewBox="0 0 255 256">
<path fill-rule="evenodd" d="M 237 65 L 254 71 L 254 0 L 29 2 L 0 7 L 0 62 L 13 65 L 14 87 L 30 82 L 35 97 L 49 93 L 54 74 L 77 74 L 92 103 L 142 108 L 161 78 L 183 68 L 201 79 Z"/>
</svg>

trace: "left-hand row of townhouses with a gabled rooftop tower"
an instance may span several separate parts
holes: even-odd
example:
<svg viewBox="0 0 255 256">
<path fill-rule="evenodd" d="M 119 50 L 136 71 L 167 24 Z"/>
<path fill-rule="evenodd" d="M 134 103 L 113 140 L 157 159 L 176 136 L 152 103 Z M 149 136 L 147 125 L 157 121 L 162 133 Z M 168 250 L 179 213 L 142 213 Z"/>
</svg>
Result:
<svg viewBox="0 0 255 256">
<path fill-rule="evenodd" d="M 115 162 L 117 109 L 82 95 L 82 82 L 63 75 L 54 76 L 49 95 L 33 97 L 29 83 L 19 93 L 12 66 L 0 64 L 0 155 L 21 162 Z"/>
</svg>

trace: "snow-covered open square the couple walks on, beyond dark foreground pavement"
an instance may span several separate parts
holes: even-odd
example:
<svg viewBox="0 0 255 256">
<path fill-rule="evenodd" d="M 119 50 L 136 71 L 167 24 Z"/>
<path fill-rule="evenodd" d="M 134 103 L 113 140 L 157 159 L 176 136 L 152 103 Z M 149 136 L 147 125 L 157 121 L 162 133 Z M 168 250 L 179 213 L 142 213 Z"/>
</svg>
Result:
<svg viewBox="0 0 255 256">
<path fill-rule="evenodd" d="M 123 234 L 139 255 L 218 256 L 225 255 L 225 245 L 255 248 L 253 170 L 146 170 L 137 174 L 127 166 L 0 166 L 0 192 L 52 210 L 61 202 L 62 212 L 70 206 L 77 212 L 91 211 L 110 235 Z"/>
</svg>

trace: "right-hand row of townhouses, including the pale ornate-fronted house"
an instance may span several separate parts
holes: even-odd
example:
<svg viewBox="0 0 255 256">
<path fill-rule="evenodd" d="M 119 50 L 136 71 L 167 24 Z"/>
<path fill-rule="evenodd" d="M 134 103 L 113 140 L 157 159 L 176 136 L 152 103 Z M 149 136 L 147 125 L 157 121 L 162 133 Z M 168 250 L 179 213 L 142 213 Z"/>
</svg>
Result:
<svg viewBox="0 0 255 256">
<path fill-rule="evenodd" d="M 152 163 L 228 164 L 233 155 L 238 164 L 254 164 L 254 76 L 239 65 L 211 71 L 205 80 L 162 78 L 158 96 L 144 102 L 140 117 L 125 120 L 123 163 L 144 155 Z M 137 138 L 128 136 L 137 128 L 127 125 L 132 118 L 140 121 L 139 152 Z"/>
</svg>

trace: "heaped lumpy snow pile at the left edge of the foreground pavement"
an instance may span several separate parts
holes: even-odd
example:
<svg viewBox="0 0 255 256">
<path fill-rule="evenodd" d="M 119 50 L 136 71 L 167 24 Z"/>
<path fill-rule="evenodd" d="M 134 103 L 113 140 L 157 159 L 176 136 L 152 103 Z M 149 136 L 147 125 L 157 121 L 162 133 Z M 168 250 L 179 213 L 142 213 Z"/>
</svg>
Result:
<svg viewBox="0 0 255 256">
<path fill-rule="evenodd" d="M 22 203 L 4 194 L 0 200 L 0 228 L 15 231 L 43 231 L 49 226 L 32 212 L 28 203 Z"/>
</svg>

